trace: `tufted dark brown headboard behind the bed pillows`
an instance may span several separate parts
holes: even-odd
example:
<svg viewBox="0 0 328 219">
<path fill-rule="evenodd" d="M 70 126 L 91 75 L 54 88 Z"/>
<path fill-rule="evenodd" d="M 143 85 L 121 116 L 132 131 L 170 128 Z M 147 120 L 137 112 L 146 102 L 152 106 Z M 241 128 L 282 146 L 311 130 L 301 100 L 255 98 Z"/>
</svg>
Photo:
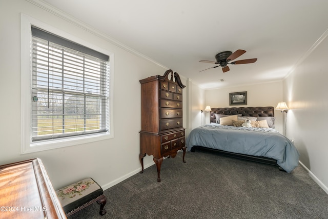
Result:
<svg viewBox="0 0 328 219">
<path fill-rule="evenodd" d="M 210 122 L 215 123 L 215 114 L 236 115 L 243 116 L 275 116 L 274 107 L 226 107 L 226 108 L 211 108 Z"/>
</svg>

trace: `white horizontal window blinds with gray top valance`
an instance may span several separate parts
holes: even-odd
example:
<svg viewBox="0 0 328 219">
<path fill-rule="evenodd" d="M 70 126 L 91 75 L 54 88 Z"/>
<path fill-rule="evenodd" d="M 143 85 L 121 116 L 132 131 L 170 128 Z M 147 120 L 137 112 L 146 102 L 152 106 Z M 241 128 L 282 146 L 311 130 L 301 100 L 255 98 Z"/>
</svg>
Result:
<svg viewBox="0 0 328 219">
<path fill-rule="evenodd" d="M 109 132 L 109 56 L 32 27 L 32 142 Z"/>
</svg>

